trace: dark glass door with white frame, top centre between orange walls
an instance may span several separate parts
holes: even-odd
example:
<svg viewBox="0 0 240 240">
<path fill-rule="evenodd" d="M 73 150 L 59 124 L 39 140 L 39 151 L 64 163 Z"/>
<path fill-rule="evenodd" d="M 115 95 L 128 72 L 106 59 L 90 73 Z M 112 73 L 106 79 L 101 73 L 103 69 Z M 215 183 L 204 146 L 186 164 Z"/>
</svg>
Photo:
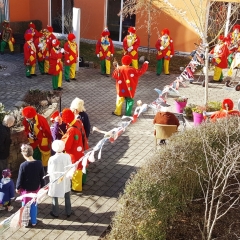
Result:
<svg viewBox="0 0 240 240">
<path fill-rule="evenodd" d="M 107 6 L 107 27 L 110 31 L 110 37 L 113 41 L 121 43 L 127 35 L 129 27 L 135 27 L 136 16 L 128 16 L 123 19 L 119 12 L 126 0 L 108 0 Z"/>
</svg>

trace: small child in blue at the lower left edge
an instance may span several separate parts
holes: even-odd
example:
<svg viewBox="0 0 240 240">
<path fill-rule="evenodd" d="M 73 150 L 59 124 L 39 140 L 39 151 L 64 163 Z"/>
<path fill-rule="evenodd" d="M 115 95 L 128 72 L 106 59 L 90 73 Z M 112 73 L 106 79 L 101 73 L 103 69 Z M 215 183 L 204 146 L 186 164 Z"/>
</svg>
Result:
<svg viewBox="0 0 240 240">
<path fill-rule="evenodd" d="M 15 192 L 15 186 L 11 176 L 10 169 L 4 169 L 2 171 L 2 179 L 0 182 L 0 210 L 5 210 L 7 207 L 9 212 L 13 210 L 11 200 L 14 198 Z"/>
</svg>

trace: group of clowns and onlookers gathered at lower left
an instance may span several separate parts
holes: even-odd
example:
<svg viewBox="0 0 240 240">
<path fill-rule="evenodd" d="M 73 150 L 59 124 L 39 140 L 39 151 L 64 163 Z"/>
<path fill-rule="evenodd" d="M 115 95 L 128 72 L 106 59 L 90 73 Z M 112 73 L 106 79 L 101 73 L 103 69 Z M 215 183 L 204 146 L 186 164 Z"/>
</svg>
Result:
<svg viewBox="0 0 240 240">
<path fill-rule="evenodd" d="M 77 162 L 84 151 L 89 148 L 88 136 L 90 134 L 90 121 L 84 107 L 84 101 L 75 98 L 70 108 L 61 113 L 56 111 L 51 116 L 51 126 L 46 118 L 36 112 L 32 106 L 23 108 L 22 115 L 25 134 L 28 143 L 21 146 L 21 153 L 26 160 L 20 165 L 16 182 L 16 193 L 23 196 L 22 207 L 31 201 L 29 193 L 37 193 L 40 188 L 48 189 L 48 195 L 52 197 L 52 211 L 50 215 L 54 218 L 59 216 L 58 197 L 65 198 L 65 212 L 71 215 L 70 191 L 82 191 L 82 184 L 86 175 L 82 174 L 82 164 L 78 164 L 72 179 L 65 177 L 60 183 L 56 182 L 61 172 Z M 0 210 L 6 207 L 11 209 L 11 198 L 9 194 L 10 185 L 6 178 L 11 178 L 11 171 L 7 168 L 7 158 L 10 151 L 10 127 L 14 123 L 12 116 L 6 115 L 0 131 L 6 135 L 0 139 L 8 148 L 0 149 L 0 155 L 4 152 L 5 161 L 0 160 L 3 178 L 0 183 Z M 1 145 L 1 147 L 5 145 Z M 6 146 L 5 146 L 6 147 Z M 49 174 L 49 184 L 46 185 L 43 177 Z M 8 187 L 7 185 L 8 184 Z M 5 187 L 4 187 L 5 186 Z M 7 188 L 6 188 L 7 187 Z M 30 206 L 30 217 L 32 226 L 37 223 L 37 203 L 34 201 Z"/>
</svg>

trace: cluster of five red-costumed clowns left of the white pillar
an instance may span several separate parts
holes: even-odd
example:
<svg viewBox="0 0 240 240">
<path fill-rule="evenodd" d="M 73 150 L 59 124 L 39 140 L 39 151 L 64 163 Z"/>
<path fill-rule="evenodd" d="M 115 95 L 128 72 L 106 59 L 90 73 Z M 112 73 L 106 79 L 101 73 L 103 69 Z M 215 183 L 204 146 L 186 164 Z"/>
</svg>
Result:
<svg viewBox="0 0 240 240">
<path fill-rule="evenodd" d="M 62 90 L 63 75 L 67 82 L 76 80 L 78 45 L 73 33 L 68 34 L 63 48 L 60 47 L 60 41 L 53 34 L 51 26 L 38 32 L 34 23 L 30 23 L 24 37 L 26 40 L 24 44 L 26 77 L 36 76 L 35 68 L 38 63 L 42 75 L 52 75 L 53 90 Z"/>
</svg>

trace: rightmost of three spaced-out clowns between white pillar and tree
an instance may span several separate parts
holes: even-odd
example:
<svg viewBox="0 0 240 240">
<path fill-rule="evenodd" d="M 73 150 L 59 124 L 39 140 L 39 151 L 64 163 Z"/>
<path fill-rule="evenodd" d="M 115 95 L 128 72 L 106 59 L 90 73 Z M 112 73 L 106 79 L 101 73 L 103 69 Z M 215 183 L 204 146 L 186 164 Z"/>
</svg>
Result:
<svg viewBox="0 0 240 240">
<path fill-rule="evenodd" d="M 164 74 L 169 75 L 169 62 L 174 55 L 173 40 L 169 36 L 169 30 L 164 28 L 161 34 L 162 36 L 155 44 L 157 49 L 157 76 L 159 76 L 162 71 L 164 71 Z"/>
</svg>

